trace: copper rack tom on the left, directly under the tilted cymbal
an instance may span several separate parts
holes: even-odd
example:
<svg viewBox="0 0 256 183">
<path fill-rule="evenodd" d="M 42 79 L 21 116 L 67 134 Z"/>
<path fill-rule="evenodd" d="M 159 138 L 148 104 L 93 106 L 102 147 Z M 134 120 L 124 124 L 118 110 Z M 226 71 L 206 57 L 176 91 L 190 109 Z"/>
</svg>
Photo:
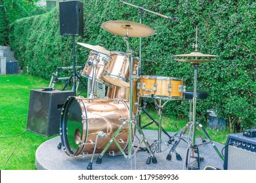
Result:
<svg viewBox="0 0 256 183">
<path fill-rule="evenodd" d="M 95 79 L 97 82 L 103 83 L 100 77 L 103 73 L 106 63 L 108 63 L 108 60 L 109 56 L 99 52 L 91 51 L 81 76 L 85 76 L 86 78 L 93 80 L 93 67 L 95 67 Z"/>
</svg>

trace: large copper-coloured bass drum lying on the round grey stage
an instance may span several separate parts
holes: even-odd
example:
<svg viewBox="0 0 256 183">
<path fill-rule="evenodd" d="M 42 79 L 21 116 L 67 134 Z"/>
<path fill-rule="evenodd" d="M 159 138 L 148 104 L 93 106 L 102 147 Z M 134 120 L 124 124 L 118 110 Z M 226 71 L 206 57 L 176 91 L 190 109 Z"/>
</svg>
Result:
<svg viewBox="0 0 256 183">
<path fill-rule="evenodd" d="M 62 148 L 68 156 L 93 154 L 96 136 L 98 138 L 95 153 L 101 153 L 110 142 L 119 126 L 129 119 L 129 104 L 122 99 L 94 99 L 69 97 L 62 108 L 60 121 L 60 138 Z M 127 147 L 129 124 L 125 124 L 116 139 L 123 150 Z M 116 143 L 112 142 L 108 152 L 119 152 Z"/>
</svg>

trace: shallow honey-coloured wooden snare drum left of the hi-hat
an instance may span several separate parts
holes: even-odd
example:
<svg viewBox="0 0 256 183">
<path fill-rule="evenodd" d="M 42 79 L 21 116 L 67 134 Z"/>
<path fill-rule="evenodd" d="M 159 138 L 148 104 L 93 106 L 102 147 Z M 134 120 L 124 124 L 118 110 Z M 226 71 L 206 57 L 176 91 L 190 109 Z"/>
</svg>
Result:
<svg viewBox="0 0 256 183">
<path fill-rule="evenodd" d="M 156 99 L 181 99 L 185 92 L 182 79 L 167 76 L 140 76 L 139 88 L 142 97 Z"/>
</svg>

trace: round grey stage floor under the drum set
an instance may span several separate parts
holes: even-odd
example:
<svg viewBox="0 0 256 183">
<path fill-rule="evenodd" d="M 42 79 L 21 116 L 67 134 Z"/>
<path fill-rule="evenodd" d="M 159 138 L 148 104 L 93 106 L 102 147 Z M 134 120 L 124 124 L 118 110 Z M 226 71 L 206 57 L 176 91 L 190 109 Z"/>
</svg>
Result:
<svg viewBox="0 0 256 183">
<path fill-rule="evenodd" d="M 143 130 L 144 135 L 148 142 L 152 144 L 155 140 L 158 139 L 158 131 L 154 130 Z M 173 135 L 173 133 L 169 133 L 169 135 Z M 163 141 L 167 141 L 167 135 L 162 133 Z M 198 143 L 200 139 L 196 139 Z M 87 165 L 91 159 L 91 155 L 87 158 L 83 158 L 82 156 L 73 156 L 70 157 L 66 155 L 64 150 L 58 149 L 58 143 L 60 142 L 60 137 L 54 137 L 53 139 L 44 142 L 37 148 L 35 153 L 35 165 L 37 169 L 49 169 L 49 170 L 86 170 Z M 136 144 L 135 144 L 136 145 Z M 221 151 L 223 149 L 223 145 L 216 143 L 215 145 Z M 144 144 L 142 143 L 142 147 Z M 135 158 L 126 159 L 124 156 L 110 156 L 106 153 L 102 158 L 101 164 L 96 164 L 96 158 L 98 158 L 98 154 L 95 155 L 95 159 L 93 161 L 93 170 L 182 170 L 186 169 L 184 167 L 184 159 L 185 152 L 188 145 L 186 142 L 181 141 L 179 146 L 177 146 L 176 151 L 181 154 L 182 161 L 178 161 L 176 159 L 175 154 L 172 155 L 172 159 L 170 161 L 166 160 L 166 156 L 171 148 L 170 146 L 166 146 L 165 144 L 161 145 L 161 149 L 165 150 L 163 152 L 157 153 L 155 152 L 156 159 L 158 163 L 150 163 L 146 164 L 146 159 L 148 158 L 148 152 L 139 150 L 135 154 Z M 203 169 L 205 166 L 213 166 L 219 169 L 223 169 L 223 161 L 219 158 L 217 152 L 214 150 L 213 146 L 209 144 L 205 144 L 199 147 L 200 157 L 203 158 L 203 161 L 200 163 L 200 169 Z M 132 161 L 131 161 L 132 160 Z"/>
</svg>

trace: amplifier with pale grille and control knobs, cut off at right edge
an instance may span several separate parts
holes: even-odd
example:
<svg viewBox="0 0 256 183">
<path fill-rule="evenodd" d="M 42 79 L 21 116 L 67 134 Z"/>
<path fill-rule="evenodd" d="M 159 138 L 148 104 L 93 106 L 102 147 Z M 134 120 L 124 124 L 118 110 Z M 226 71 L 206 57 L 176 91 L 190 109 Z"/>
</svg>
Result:
<svg viewBox="0 0 256 183">
<path fill-rule="evenodd" d="M 228 135 L 224 169 L 256 170 L 256 137 L 245 137 L 243 133 Z"/>
</svg>

